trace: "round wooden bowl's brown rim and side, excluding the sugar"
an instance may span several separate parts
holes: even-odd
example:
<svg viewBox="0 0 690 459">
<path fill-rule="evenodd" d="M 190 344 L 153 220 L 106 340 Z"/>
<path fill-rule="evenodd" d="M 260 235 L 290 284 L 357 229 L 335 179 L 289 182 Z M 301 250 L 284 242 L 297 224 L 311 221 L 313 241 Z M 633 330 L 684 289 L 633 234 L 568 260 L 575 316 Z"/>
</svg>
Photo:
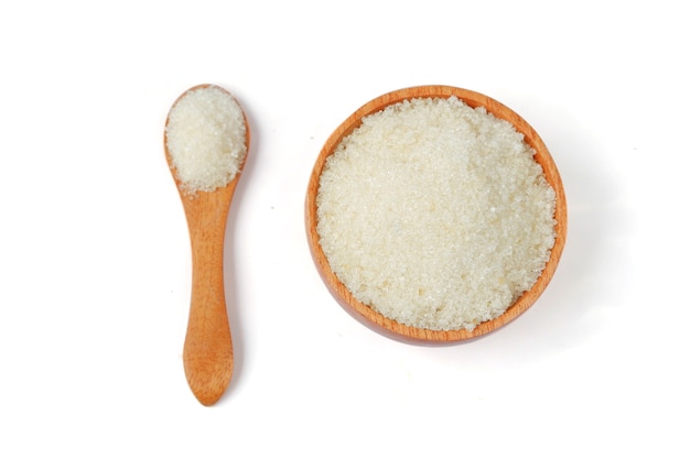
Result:
<svg viewBox="0 0 690 459">
<path fill-rule="evenodd" d="M 531 289 L 525 292 L 503 315 L 477 325 L 472 331 L 466 329 L 446 331 L 410 327 L 385 317 L 384 315 L 371 309 L 369 306 L 360 303 L 333 273 L 321 248 L 319 241 L 320 237 L 316 231 L 316 195 L 319 193 L 321 173 L 326 159 L 333 154 L 343 138 L 359 127 L 364 117 L 380 111 L 390 105 L 412 98 L 449 98 L 451 96 L 457 97 L 470 107 L 484 107 L 489 113 L 510 122 L 518 132 L 521 132 L 525 135 L 527 144 L 536 151 L 535 161 L 541 165 L 546 179 L 556 192 L 556 241 L 553 248 L 551 249 L 551 256 L 547 262 L 541 276 L 537 280 Z M 477 338 L 505 326 L 527 310 L 541 295 L 553 276 L 563 251 L 563 245 L 565 244 L 568 226 L 565 194 L 563 193 L 561 177 L 556 164 L 553 163 L 551 154 L 539 134 L 537 134 L 537 132 L 519 114 L 503 103 L 482 94 L 451 86 L 418 86 L 396 90 L 377 97 L 349 116 L 333 132 L 333 134 L 331 134 L 316 159 L 316 163 L 314 164 L 314 168 L 309 181 L 305 207 L 305 223 L 309 247 L 314 259 L 314 263 L 316 264 L 316 269 L 331 294 L 353 317 L 374 330 L 390 338 L 420 343 L 455 342 Z"/>
</svg>

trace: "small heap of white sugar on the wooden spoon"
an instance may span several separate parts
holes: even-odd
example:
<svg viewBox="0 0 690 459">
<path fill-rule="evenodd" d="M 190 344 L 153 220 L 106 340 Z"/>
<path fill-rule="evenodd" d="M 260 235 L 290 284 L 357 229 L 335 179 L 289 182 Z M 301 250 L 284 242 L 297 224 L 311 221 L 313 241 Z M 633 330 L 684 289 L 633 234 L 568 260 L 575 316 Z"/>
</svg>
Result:
<svg viewBox="0 0 690 459">
<path fill-rule="evenodd" d="M 190 193 L 227 185 L 247 154 L 242 110 L 216 86 L 182 96 L 169 113 L 165 133 L 177 179 Z"/>
</svg>

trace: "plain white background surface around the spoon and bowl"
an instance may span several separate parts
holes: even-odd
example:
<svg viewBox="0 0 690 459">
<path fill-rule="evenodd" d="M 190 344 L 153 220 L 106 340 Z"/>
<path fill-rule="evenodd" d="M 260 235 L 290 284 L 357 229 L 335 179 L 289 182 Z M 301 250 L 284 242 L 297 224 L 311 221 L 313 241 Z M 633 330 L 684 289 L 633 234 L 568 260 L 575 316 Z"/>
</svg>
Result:
<svg viewBox="0 0 690 459">
<path fill-rule="evenodd" d="M 19 4 L 0 7 L 0 457 L 688 457 L 681 2 Z M 191 256 L 162 145 L 201 83 L 252 132 L 213 407 L 182 369 Z M 303 225 L 331 132 L 429 84 L 532 124 L 570 218 L 535 306 L 440 348 L 348 316 Z"/>
</svg>

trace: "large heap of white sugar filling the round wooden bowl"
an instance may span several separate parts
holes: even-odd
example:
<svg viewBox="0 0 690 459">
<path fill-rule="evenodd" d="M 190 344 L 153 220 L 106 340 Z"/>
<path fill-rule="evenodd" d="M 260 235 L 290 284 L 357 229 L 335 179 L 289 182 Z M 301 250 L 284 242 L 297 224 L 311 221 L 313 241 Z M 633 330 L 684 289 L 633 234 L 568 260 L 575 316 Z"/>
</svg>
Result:
<svg viewBox="0 0 690 459">
<path fill-rule="evenodd" d="M 513 124 L 455 97 L 363 119 L 323 168 L 316 231 L 362 303 L 408 326 L 467 330 L 543 270 L 556 193 Z"/>
</svg>

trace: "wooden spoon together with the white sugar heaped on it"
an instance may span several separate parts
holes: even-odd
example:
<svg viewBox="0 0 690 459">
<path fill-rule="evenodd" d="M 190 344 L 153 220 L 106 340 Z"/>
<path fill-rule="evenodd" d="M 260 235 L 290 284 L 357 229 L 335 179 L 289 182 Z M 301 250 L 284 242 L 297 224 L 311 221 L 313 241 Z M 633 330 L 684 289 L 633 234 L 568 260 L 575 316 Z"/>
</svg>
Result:
<svg viewBox="0 0 690 459">
<path fill-rule="evenodd" d="M 225 89 L 192 87 L 168 113 L 164 149 L 192 245 L 184 372 L 195 397 L 209 406 L 225 393 L 234 367 L 223 259 L 227 216 L 249 150 L 247 118 Z"/>
</svg>

